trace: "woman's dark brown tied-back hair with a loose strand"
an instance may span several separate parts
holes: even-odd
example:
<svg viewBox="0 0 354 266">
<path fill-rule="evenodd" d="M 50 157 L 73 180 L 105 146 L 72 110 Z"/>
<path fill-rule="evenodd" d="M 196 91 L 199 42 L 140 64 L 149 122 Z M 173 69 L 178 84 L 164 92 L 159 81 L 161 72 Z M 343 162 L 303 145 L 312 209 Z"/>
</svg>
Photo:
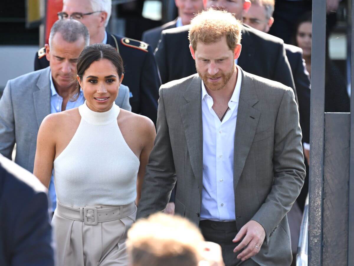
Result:
<svg viewBox="0 0 354 266">
<path fill-rule="evenodd" d="M 99 61 L 101 59 L 108 59 L 112 62 L 117 70 L 119 78 L 121 78 L 124 73 L 124 67 L 120 54 L 112 46 L 99 43 L 86 46 L 80 53 L 78 64 L 76 65 L 76 74 L 79 75 L 80 80 L 82 80 L 86 69 L 88 69 L 94 61 Z M 71 93 L 71 98 L 75 101 L 78 99 L 79 94 L 80 84 L 77 81 L 77 84 Z"/>
</svg>

